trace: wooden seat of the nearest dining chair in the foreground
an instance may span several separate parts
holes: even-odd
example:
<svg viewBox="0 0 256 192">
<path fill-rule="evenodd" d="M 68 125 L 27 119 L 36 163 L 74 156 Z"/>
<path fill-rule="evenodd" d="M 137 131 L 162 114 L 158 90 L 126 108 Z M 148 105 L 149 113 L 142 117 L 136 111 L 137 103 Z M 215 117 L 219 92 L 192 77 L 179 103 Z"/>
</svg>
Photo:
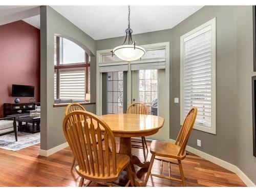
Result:
<svg viewBox="0 0 256 192">
<path fill-rule="evenodd" d="M 113 165 L 112 165 L 112 155 L 110 154 L 110 176 L 108 175 L 108 170 L 106 169 L 106 162 L 105 162 L 105 154 L 103 154 L 104 156 L 104 173 L 105 175 L 102 176 L 102 174 L 100 174 L 99 176 L 96 173 L 95 170 L 95 175 L 93 176 L 92 172 L 91 174 L 89 174 L 88 172 L 82 172 L 81 169 L 79 169 L 79 166 L 76 166 L 76 172 L 78 175 L 80 175 L 81 177 L 91 180 L 91 181 L 102 181 L 102 179 L 104 179 L 106 182 L 112 182 L 112 181 L 116 181 L 120 175 L 120 173 L 122 172 L 122 170 L 130 163 L 130 157 L 127 155 L 123 155 L 123 154 L 116 154 L 116 174 L 113 174 Z M 98 156 L 99 157 L 99 156 Z M 94 164 L 95 169 L 97 168 L 97 165 Z M 99 169 L 101 170 L 101 166 L 99 165 Z"/>
</svg>

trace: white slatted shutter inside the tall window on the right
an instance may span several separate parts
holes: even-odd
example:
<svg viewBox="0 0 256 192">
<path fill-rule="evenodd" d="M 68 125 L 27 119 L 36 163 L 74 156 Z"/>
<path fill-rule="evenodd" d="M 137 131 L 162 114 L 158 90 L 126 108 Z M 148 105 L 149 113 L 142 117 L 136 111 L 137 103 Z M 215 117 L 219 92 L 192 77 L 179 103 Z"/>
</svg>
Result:
<svg viewBox="0 0 256 192">
<path fill-rule="evenodd" d="M 198 108 L 195 124 L 211 127 L 211 26 L 184 38 L 183 116 Z"/>
</svg>

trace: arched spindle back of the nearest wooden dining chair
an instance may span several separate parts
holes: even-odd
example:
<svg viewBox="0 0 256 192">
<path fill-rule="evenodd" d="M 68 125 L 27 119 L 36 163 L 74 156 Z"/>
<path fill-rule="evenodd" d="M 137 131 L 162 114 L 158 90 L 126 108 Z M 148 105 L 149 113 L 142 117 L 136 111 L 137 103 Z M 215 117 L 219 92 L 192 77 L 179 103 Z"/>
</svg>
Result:
<svg viewBox="0 0 256 192">
<path fill-rule="evenodd" d="M 87 120 L 81 120 L 81 116 Z M 71 112 L 63 120 L 63 132 L 82 172 L 101 177 L 116 174 L 115 137 L 109 125 L 98 116 L 87 111 Z M 110 144 L 112 152 L 108 150 Z"/>
</svg>

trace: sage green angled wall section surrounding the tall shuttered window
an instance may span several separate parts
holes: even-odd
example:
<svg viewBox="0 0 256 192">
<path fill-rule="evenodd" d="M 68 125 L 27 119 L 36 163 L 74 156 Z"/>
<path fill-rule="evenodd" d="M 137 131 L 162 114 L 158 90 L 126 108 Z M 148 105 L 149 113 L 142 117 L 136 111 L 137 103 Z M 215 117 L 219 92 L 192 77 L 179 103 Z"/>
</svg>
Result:
<svg viewBox="0 0 256 192">
<path fill-rule="evenodd" d="M 173 95 L 180 97 L 180 36 L 216 17 L 217 20 L 217 135 L 198 130 L 191 132 L 188 145 L 237 164 L 237 16 L 241 7 L 206 6 L 172 29 Z M 173 103 L 173 102 L 172 102 Z M 171 106 L 170 136 L 175 139 L 180 126 L 180 104 Z M 197 146 L 197 139 L 202 146 Z"/>
</svg>

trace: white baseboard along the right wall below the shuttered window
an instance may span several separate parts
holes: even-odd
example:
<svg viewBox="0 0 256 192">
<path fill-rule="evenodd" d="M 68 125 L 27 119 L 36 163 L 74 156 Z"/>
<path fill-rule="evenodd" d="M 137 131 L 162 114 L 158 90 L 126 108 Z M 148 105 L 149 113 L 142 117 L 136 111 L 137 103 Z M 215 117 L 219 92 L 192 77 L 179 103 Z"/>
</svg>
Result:
<svg viewBox="0 0 256 192">
<path fill-rule="evenodd" d="M 175 140 L 173 139 L 169 139 L 170 142 L 175 142 Z M 230 172 L 233 172 L 235 174 L 238 175 L 238 177 L 248 186 L 248 187 L 255 187 L 256 185 L 242 172 L 242 170 L 240 168 L 238 168 L 236 165 L 233 165 L 231 163 L 228 163 L 222 159 L 219 159 L 217 157 L 214 157 L 212 155 L 209 155 L 207 153 L 204 153 L 200 150 L 197 150 L 196 148 L 193 148 L 191 146 L 186 147 L 186 151 L 193 153 L 195 155 L 198 155 L 199 157 L 202 157 L 212 163 L 215 163 L 219 166 L 222 166 L 228 170 L 230 170 Z"/>
</svg>

